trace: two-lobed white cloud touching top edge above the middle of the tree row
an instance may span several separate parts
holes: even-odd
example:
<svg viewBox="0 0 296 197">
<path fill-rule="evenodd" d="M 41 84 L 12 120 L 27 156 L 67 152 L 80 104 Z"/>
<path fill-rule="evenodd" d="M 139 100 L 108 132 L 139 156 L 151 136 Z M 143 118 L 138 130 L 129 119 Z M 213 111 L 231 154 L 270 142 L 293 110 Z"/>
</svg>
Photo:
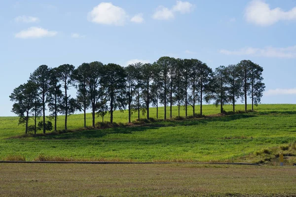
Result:
<svg viewBox="0 0 296 197">
<path fill-rule="evenodd" d="M 158 6 L 154 14 L 152 15 L 153 19 L 156 20 L 170 20 L 175 18 L 175 13 L 180 12 L 182 14 L 189 13 L 193 10 L 194 5 L 187 2 L 177 0 L 176 5 L 169 9 L 164 6 Z"/>
</svg>

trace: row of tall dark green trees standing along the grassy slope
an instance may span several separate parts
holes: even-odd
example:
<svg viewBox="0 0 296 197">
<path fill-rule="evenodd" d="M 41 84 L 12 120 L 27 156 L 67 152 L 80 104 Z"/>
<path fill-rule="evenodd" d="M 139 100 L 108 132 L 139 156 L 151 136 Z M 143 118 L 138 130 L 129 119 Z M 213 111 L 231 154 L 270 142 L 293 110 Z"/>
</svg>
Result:
<svg viewBox="0 0 296 197">
<path fill-rule="evenodd" d="M 214 101 L 216 106 L 231 103 L 235 111 L 237 99 L 247 98 L 253 105 L 260 102 L 264 91 L 262 83 L 263 68 L 250 60 L 243 60 L 237 65 L 219 66 L 214 71 L 197 59 L 175 59 L 161 57 L 153 64 L 136 63 L 126 67 L 116 64 L 104 65 L 101 62 L 83 63 L 75 68 L 73 65 L 61 65 L 50 68 L 39 66 L 27 83 L 13 90 L 10 100 L 14 101 L 12 112 L 17 114 L 19 124 L 26 125 L 26 133 L 37 130 L 56 130 L 58 114 L 65 115 L 65 130 L 67 117 L 76 110 L 84 113 L 86 127 L 86 110 L 92 111 L 92 126 L 95 127 L 96 116 L 110 114 L 113 122 L 113 111 L 128 110 L 129 122 L 131 114 L 146 114 L 149 119 L 149 107 L 164 105 L 164 119 L 167 119 L 167 107 L 172 118 L 172 106 L 192 107 L 196 115 L 195 105 L 200 105 L 202 115 L 203 101 Z M 69 89 L 75 87 L 76 98 L 69 95 Z M 50 112 L 54 120 L 54 128 L 50 121 L 45 122 L 45 110 Z M 37 119 L 42 121 L 37 124 Z M 34 125 L 28 126 L 29 119 Z"/>
</svg>

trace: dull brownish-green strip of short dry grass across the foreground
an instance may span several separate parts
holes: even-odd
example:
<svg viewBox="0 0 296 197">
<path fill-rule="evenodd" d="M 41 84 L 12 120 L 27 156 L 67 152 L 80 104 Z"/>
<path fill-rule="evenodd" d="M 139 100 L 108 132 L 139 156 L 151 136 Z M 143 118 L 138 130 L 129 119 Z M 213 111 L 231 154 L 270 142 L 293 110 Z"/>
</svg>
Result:
<svg viewBox="0 0 296 197">
<path fill-rule="evenodd" d="M 0 164 L 0 196 L 295 196 L 295 166 Z"/>
</svg>

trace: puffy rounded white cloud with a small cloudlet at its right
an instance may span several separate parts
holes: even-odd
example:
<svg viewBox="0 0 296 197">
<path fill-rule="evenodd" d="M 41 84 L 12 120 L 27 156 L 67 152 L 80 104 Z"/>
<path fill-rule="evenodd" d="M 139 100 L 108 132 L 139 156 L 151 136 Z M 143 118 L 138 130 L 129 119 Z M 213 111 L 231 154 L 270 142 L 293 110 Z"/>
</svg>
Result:
<svg viewBox="0 0 296 197">
<path fill-rule="evenodd" d="M 93 23 L 123 26 L 128 15 L 121 7 L 112 3 L 102 2 L 88 13 L 87 19 Z"/>
</svg>

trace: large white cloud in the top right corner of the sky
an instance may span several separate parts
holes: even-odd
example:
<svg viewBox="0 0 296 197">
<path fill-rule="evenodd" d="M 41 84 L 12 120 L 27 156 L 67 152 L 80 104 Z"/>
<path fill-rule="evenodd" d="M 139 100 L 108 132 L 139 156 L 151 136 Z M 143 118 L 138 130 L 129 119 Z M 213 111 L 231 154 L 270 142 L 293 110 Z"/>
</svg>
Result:
<svg viewBox="0 0 296 197">
<path fill-rule="evenodd" d="M 269 26 L 281 20 L 296 20 L 296 7 L 289 11 L 279 7 L 270 9 L 264 0 L 252 0 L 245 9 L 245 18 L 250 23 Z"/>
</svg>

